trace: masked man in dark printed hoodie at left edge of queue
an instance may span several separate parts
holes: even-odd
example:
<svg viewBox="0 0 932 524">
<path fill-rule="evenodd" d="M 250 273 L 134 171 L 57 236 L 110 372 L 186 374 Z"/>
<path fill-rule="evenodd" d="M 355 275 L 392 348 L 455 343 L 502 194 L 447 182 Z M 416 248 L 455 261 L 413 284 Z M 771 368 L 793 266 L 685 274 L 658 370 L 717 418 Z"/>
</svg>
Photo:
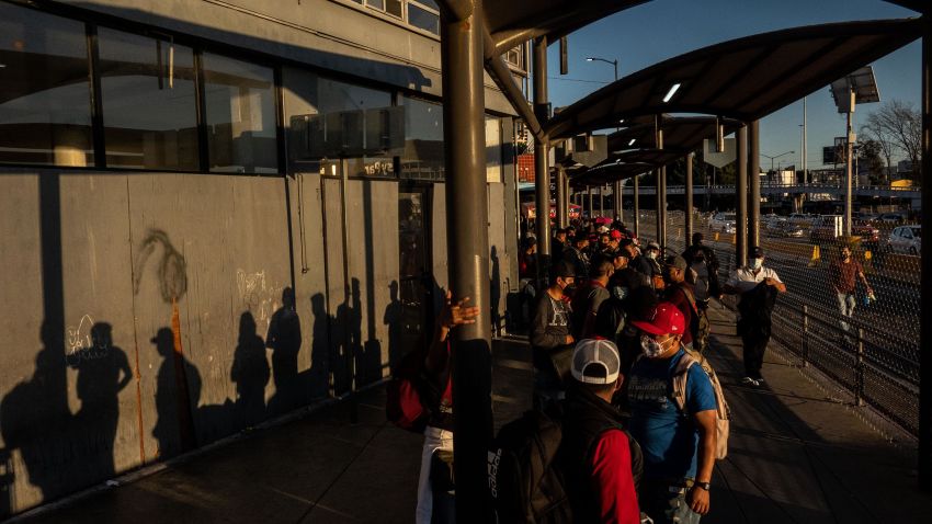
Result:
<svg viewBox="0 0 932 524">
<path fill-rule="evenodd" d="M 567 261 L 554 265 L 550 287 L 541 294 L 531 323 L 534 363 L 534 403 L 544 408 L 562 396 L 564 374 L 572 356 L 572 318 L 564 292 L 576 281 L 576 270 Z"/>
</svg>

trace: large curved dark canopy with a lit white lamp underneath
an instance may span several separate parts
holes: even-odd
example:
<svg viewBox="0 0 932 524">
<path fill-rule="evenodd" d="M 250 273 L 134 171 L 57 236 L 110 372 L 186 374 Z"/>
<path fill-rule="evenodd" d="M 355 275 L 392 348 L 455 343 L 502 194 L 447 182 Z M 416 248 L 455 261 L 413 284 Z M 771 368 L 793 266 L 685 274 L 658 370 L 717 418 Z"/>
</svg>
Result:
<svg viewBox="0 0 932 524">
<path fill-rule="evenodd" d="M 658 113 L 762 118 L 917 39 L 921 24 L 901 19 L 811 25 L 704 47 L 595 91 L 565 107 L 545 132 L 559 139 Z"/>
</svg>

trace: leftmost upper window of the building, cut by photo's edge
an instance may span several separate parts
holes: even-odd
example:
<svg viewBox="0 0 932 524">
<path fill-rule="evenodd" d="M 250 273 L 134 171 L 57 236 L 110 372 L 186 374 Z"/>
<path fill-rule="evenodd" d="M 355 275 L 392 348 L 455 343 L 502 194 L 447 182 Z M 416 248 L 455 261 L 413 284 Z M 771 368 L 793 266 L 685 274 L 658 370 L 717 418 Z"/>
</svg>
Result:
<svg viewBox="0 0 932 524">
<path fill-rule="evenodd" d="M 0 2 L 0 161 L 93 164 L 84 24 Z"/>
</svg>

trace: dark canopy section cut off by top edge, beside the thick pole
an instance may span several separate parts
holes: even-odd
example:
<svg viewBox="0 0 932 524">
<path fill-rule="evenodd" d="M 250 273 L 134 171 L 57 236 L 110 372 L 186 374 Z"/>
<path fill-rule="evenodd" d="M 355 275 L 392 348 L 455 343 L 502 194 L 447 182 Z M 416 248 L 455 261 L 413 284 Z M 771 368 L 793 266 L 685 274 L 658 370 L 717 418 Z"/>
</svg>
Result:
<svg viewBox="0 0 932 524">
<path fill-rule="evenodd" d="M 618 11 L 649 0 L 496 0 L 482 3 L 496 54 L 546 36 L 554 42 Z"/>
</svg>

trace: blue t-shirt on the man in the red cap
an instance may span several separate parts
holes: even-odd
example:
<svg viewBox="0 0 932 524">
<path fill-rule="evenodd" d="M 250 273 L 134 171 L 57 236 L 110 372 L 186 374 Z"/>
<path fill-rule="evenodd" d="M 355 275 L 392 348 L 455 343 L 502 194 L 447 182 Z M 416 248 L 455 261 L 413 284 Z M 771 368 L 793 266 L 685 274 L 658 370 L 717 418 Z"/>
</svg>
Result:
<svg viewBox="0 0 932 524">
<path fill-rule="evenodd" d="M 712 380 L 702 366 L 686 372 L 686 411 L 672 400 L 672 376 L 685 354 L 680 350 L 669 360 L 639 358 L 628 374 L 632 420 L 628 430 L 644 452 L 647 478 L 695 478 L 698 429 L 693 414 L 717 407 Z"/>
</svg>

